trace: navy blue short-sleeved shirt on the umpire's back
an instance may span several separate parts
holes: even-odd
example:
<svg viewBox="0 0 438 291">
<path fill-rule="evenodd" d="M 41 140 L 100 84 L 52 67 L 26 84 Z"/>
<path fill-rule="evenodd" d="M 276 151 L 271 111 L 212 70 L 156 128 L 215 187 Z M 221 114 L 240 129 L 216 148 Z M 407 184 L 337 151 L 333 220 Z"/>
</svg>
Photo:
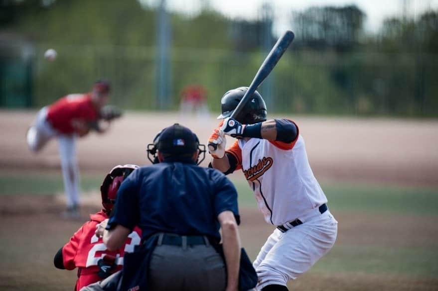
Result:
<svg viewBox="0 0 438 291">
<path fill-rule="evenodd" d="M 191 159 L 135 170 L 117 193 L 107 229 L 139 226 L 143 237 L 157 232 L 207 235 L 220 240 L 219 213 L 230 210 L 239 221 L 237 192 L 224 174 Z"/>
</svg>

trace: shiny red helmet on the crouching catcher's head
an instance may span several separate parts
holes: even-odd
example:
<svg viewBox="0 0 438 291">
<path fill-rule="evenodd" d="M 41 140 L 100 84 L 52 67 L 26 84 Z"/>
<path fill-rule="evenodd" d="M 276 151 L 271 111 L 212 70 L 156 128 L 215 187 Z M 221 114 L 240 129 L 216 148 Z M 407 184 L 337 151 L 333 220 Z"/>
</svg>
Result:
<svg viewBox="0 0 438 291">
<path fill-rule="evenodd" d="M 114 203 L 116 203 L 117 191 L 123 180 L 137 168 L 139 168 L 137 165 L 118 165 L 105 177 L 100 187 L 100 193 L 102 194 L 102 206 L 106 213 L 110 213 L 113 209 Z"/>
</svg>

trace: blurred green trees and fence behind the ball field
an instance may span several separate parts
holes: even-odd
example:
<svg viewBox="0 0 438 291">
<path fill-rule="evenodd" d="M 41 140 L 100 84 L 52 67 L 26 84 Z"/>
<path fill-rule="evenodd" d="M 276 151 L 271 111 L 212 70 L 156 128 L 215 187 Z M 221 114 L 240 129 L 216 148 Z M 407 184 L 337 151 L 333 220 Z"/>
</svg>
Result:
<svg viewBox="0 0 438 291">
<path fill-rule="evenodd" d="M 155 7 L 137 0 L 9 0 L 0 6 L 0 33 L 34 44 L 33 106 L 86 92 L 105 77 L 113 83 L 113 103 L 157 108 Z M 270 109 L 437 116 L 437 11 L 386 19 L 373 34 L 365 32 L 366 17 L 354 5 L 292 13 L 296 39 L 269 77 L 272 92 L 264 97 Z M 230 19 L 209 8 L 172 12 L 169 108 L 178 107 L 188 84 L 206 88 L 213 110 L 224 92 L 248 86 L 267 54 L 266 21 Z M 54 62 L 43 59 L 48 48 L 58 52 Z"/>
</svg>

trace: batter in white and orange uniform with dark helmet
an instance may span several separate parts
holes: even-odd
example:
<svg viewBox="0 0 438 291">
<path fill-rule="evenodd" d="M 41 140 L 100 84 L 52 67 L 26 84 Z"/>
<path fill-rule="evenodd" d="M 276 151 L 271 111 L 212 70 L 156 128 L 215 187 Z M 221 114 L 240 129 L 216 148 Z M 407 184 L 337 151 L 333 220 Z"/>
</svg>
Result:
<svg viewBox="0 0 438 291">
<path fill-rule="evenodd" d="M 337 235 L 337 221 L 310 169 L 304 139 L 288 119 L 267 120 L 266 105 L 256 91 L 236 119 L 229 116 L 247 87 L 222 97 L 223 119 L 209 147 L 211 167 L 229 174 L 242 169 L 265 221 L 276 226 L 253 265 L 257 290 L 287 291 L 297 278 L 325 255 Z M 229 135 L 238 140 L 226 150 Z"/>
</svg>

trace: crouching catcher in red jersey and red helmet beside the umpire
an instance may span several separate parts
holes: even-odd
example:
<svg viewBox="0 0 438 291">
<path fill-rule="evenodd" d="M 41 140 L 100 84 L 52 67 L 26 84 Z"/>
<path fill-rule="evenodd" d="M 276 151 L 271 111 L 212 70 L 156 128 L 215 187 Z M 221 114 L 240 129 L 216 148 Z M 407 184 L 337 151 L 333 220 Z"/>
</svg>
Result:
<svg viewBox="0 0 438 291">
<path fill-rule="evenodd" d="M 109 217 L 123 180 L 137 168 L 139 167 L 136 165 L 119 165 L 111 170 L 100 188 L 103 209 L 91 214 L 91 220 L 82 225 L 70 241 L 56 253 L 53 260 L 56 268 L 78 268 L 75 291 L 120 271 L 124 253 L 133 252 L 134 247 L 140 244 L 142 231 L 138 227 L 128 235 L 124 245 L 115 251 L 107 250 L 102 238 L 95 235 L 97 226 Z"/>
</svg>

